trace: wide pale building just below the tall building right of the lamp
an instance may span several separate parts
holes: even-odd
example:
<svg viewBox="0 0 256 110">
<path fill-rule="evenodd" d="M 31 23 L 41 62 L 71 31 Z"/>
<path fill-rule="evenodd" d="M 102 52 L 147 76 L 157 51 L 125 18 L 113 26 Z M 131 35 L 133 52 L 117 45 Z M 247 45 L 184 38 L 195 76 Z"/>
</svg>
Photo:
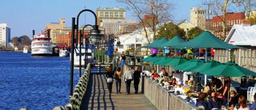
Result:
<svg viewBox="0 0 256 110">
<path fill-rule="evenodd" d="M 130 27 L 136 25 L 133 19 L 102 19 L 101 22 L 101 27 L 105 28 L 107 35 L 134 31 Z"/>
</svg>

